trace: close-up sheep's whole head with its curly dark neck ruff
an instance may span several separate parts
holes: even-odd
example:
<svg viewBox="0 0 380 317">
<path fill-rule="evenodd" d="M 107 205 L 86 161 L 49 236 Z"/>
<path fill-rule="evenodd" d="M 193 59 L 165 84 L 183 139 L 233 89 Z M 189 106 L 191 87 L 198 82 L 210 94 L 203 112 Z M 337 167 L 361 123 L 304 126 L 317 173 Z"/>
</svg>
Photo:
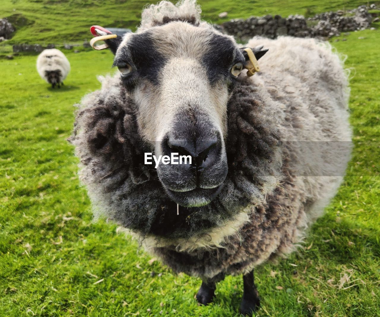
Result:
<svg viewBox="0 0 380 317">
<path fill-rule="evenodd" d="M 282 110 L 239 76 L 249 50 L 200 21 L 194 0 L 149 6 L 136 33 L 105 44 L 122 77 L 82 100 L 70 138 L 95 214 L 169 240 L 244 222 L 282 177 Z M 192 164 L 155 170 L 147 151 Z"/>
</svg>

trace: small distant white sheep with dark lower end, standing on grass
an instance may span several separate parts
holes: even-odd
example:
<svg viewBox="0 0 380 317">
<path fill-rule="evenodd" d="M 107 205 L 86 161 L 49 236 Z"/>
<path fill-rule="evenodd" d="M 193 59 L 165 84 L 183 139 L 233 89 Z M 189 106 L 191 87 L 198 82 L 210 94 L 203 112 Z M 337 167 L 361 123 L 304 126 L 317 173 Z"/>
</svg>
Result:
<svg viewBox="0 0 380 317">
<path fill-rule="evenodd" d="M 37 71 L 54 88 L 61 88 L 70 72 L 70 63 L 59 49 L 45 49 L 37 57 Z"/>
</svg>

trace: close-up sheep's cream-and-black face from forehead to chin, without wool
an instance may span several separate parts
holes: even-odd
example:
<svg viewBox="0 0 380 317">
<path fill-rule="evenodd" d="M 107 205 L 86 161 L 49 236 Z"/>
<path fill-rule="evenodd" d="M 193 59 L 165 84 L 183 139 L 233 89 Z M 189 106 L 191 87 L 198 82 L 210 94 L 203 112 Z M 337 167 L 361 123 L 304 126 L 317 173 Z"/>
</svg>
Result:
<svg viewBox="0 0 380 317">
<path fill-rule="evenodd" d="M 114 65 L 136 104 L 141 136 L 157 157 L 191 157 L 191 164 L 189 158 L 157 167 L 179 205 L 207 205 L 223 187 L 227 104 L 244 63 L 231 37 L 184 22 L 130 34 L 116 51 Z"/>
</svg>

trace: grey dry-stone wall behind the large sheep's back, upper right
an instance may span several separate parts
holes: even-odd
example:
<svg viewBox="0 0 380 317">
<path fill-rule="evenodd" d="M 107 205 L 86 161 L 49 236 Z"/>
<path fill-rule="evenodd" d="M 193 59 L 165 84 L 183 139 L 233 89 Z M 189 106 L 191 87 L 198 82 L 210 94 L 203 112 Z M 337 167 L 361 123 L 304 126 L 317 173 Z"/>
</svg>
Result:
<svg viewBox="0 0 380 317">
<path fill-rule="evenodd" d="M 337 36 L 340 32 L 368 28 L 371 21 L 372 16 L 368 13 L 367 7 L 359 6 L 357 9 L 348 11 L 316 14 L 308 19 L 301 15 L 291 15 L 287 18 L 267 15 L 249 17 L 246 20 L 234 19 L 223 23 L 220 30 L 235 36 L 242 42 L 255 35 L 269 38 L 280 35 L 328 38 Z"/>
</svg>

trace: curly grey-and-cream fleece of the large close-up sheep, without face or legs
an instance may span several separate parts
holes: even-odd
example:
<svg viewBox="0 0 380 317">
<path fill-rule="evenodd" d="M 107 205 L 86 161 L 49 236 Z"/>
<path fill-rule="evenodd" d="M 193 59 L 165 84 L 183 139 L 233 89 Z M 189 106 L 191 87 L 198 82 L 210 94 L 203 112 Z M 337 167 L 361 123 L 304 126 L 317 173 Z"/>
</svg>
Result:
<svg viewBox="0 0 380 317">
<path fill-rule="evenodd" d="M 199 21 L 194 2 L 184 5 Z M 160 6 L 160 14 L 154 6 L 143 13 L 142 27 L 181 20 L 181 6 Z M 344 175 L 351 130 L 339 57 L 314 39 L 253 38 L 245 46 L 260 45 L 269 49 L 261 73 L 239 76 L 228 103 L 224 188 L 209 205 L 180 207 L 178 216 L 155 170 L 143 164 L 152 145 L 140 138 L 136 106 L 120 77 L 101 78 L 101 90 L 79 105 L 71 142 L 95 214 L 130 229 L 176 272 L 239 274 L 291 252 Z M 317 141 L 348 142 L 332 148 Z"/>
</svg>

